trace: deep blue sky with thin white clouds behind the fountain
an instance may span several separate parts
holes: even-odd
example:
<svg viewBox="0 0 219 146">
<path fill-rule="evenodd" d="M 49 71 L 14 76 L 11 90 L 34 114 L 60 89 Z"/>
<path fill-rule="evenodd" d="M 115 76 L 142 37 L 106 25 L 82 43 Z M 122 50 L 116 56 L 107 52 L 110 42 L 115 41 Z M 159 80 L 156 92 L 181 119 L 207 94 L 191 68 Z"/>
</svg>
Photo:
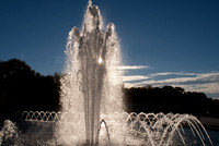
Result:
<svg viewBox="0 0 219 146">
<path fill-rule="evenodd" d="M 0 60 L 62 72 L 88 0 L 0 0 Z M 219 99 L 219 1 L 93 0 L 120 42 L 124 84 L 180 86 Z"/>
</svg>

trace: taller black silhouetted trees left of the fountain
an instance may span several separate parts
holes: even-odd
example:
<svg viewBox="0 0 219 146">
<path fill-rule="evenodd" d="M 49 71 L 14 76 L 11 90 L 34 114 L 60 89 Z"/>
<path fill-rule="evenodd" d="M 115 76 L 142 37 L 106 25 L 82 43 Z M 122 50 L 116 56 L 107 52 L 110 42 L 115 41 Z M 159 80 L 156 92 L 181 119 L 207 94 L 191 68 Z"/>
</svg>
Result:
<svg viewBox="0 0 219 146">
<path fill-rule="evenodd" d="M 58 74 L 43 76 L 18 59 L 0 62 L 0 117 L 15 118 L 24 110 L 58 110 Z"/>
</svg>

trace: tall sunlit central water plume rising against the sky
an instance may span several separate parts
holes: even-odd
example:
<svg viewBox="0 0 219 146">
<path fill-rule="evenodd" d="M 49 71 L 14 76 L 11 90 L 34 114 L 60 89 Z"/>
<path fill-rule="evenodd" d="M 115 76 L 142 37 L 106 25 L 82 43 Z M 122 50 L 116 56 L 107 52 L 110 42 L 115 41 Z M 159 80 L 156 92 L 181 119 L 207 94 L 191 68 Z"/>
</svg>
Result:
<svg viewBox="0 0 219 146">
<path fill-rule="evenodd" d="M 114 24 L 108 24 L 104 33 L 100 10 L 89 1 L 82 31 L 73 27 L 68 37 L 57 143 L 96 144 L 103 119 L 111 136 L 118 138 L 116 131 L 120 134 L 122 126 L 116 113 L 124 112 L 119 51 Z"/>
</svg>

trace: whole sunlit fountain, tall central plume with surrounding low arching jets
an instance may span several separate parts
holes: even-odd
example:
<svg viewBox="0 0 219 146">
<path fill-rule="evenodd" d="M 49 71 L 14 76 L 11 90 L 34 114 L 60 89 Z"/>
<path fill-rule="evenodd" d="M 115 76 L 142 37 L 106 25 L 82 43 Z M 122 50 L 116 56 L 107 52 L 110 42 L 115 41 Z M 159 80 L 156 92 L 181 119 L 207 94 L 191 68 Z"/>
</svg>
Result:
<svg viewBox="0 0 219 146">
<path fill-rule="evenodd" d="M 5 121 L 0 144 L 212 145 L 207 131 L 193 115 L 124 111 L 119 51 L 114 24 L 104 31 L 100 10 L 90 0 L 82 31 L 73 27 L 69 33 L 61 111 L 24 111 L 24 127 L 32 129 L 23 133 Z M 39 129 L 44 131 L 38 132 Z"/>
</svg>

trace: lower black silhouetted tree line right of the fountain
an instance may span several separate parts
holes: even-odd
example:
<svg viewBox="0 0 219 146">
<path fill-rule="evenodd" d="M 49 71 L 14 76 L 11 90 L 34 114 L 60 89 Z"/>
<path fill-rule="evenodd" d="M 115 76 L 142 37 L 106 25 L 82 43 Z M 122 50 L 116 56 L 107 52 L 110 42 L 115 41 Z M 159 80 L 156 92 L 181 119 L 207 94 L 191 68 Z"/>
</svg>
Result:
<svg viewBox="0 0 219 146">
<path fill-rule="evenodd" d="M 127 112 L 173 112 L 219 118 L 219 100 L 207 98 L 204 93 L 185 92 L 172 86 L 131 87 L 123 90 Z"/>
</svg>

